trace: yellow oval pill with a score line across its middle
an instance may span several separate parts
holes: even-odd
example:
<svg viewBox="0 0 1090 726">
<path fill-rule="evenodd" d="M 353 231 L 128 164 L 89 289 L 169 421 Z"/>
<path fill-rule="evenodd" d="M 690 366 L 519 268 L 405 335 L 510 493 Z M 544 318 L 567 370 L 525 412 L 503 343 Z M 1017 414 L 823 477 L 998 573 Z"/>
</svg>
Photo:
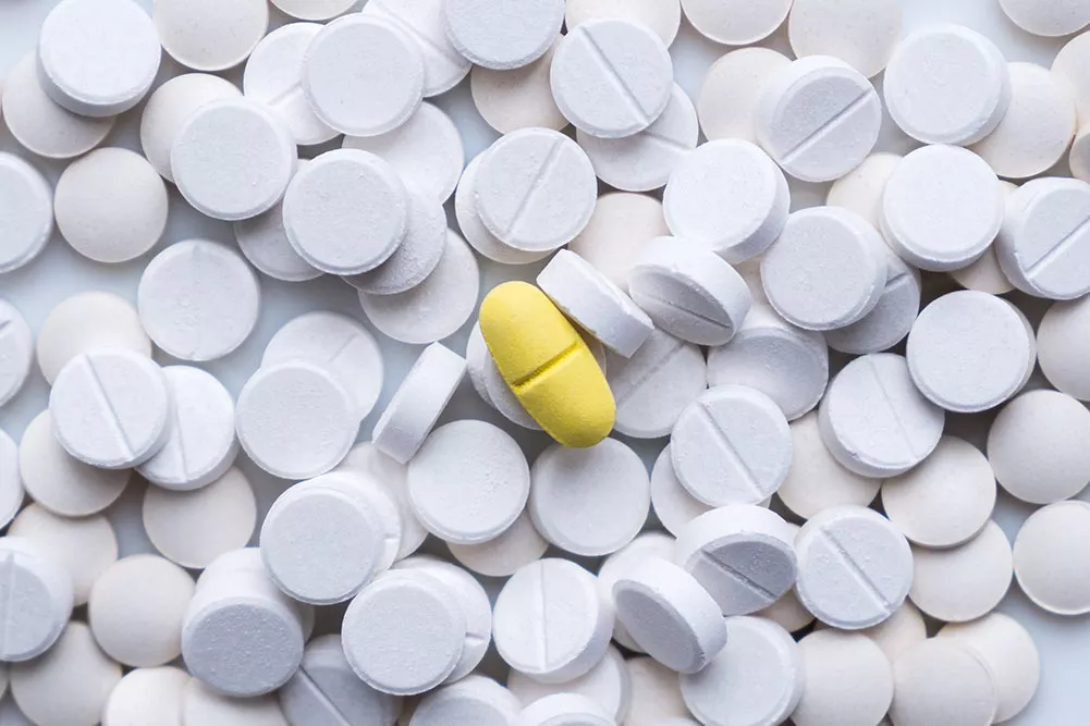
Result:
<svg viewBox="0 0 1090 726">
<path fill-rule="evenodd" d="M 504 380 L 542 428 L 565 446 L 594 446 L 617 406 L 579 331 L 545 293 L 505 282 L 481 303 L 481 334 Z"/>
</svg>

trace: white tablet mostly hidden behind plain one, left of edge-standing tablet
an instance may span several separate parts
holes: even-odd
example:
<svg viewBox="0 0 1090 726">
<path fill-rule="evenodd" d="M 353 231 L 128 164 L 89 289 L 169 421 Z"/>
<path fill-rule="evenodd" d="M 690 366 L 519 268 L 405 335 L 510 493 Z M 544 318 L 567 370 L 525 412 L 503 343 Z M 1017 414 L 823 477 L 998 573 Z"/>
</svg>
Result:
<svg viewBox="0 0 1090 726">
<path fill-rule="evenodd" d="M 289 320 L 265 347 L 262 365 L 308 361 L 328 370 L 355 399 L 356 415 L 367 418 L 383 389 L 384 364 L 374 336 L 338 313 L 304 313 Z"/>
</svg>

